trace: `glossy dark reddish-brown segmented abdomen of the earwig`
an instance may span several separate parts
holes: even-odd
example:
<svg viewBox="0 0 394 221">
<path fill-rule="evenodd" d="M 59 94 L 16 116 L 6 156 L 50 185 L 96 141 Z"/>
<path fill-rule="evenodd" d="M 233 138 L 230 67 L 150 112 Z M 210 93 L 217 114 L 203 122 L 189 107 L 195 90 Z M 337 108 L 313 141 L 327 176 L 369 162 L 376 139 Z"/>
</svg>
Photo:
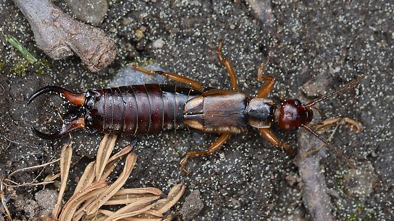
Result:
<svg viewBox="0 0 394 221">
<path fill-rule="evenodd" d="M 144 84 L 89 90 L 85 124 L 111 135 L 148 135 L 187 130 L 183 105 L 202 92 L 164 84 Z"/>
</svg>

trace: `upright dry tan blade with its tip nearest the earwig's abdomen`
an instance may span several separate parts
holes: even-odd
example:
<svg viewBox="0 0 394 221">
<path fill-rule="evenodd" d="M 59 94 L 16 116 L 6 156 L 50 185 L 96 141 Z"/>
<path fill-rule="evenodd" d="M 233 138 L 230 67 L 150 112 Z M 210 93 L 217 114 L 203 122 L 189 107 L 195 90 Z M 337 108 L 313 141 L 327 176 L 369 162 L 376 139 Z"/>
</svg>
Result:
<svg viewBox="0 0 394 221">
<path fill-rule="evenodd" d="M 104 135 L 104 138 L 102 138 L 100 142 L 99 149 L 97 151 L 97 157 L 96 157 L 96 168 L 95 168 L 96 181 L 99 181 L 101 179 L 102 172 L 104 171 L 109 156 L 111 155 L 112 150 L 114 149 L 116 138 L 117 138 L 116 135 L 106 134 Z"/>
</svg>

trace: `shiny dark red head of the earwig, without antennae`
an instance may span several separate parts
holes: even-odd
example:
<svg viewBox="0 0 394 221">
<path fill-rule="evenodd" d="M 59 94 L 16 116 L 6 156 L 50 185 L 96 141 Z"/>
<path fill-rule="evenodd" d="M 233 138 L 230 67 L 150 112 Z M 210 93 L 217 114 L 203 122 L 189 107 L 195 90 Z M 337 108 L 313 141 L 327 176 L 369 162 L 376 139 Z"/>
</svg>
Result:
<svg viewBox="0 0 394 221">
<path fill-rule="evenodd" d="M 313 111 L 299 100 L 285 100 L 279 108 L 279 126 L 283 130 L 297 130 L 308 125 L 313 119 Z"/>
</svg>

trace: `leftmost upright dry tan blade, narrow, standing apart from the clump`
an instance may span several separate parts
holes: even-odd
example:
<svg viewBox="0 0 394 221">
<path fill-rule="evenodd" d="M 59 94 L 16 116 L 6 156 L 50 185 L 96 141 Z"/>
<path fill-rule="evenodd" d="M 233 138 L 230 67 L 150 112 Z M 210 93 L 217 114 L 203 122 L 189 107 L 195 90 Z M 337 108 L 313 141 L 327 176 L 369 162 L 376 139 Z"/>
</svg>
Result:
<svg viewBox="0 0 394 221">
<path fill-rule="evenodd" d="M 71 165 L 71 157 L 72 157 L 71 144 L 66 144 L 66 145 L 63 146 L 62 153 L 60 155 L 60 179 L 61 179 L 61 184 L 60 184 L 60 191 L 59 191 L 58 201 L 57 201 L 57 203 L 55 205 L 55 208 L 52 210 L 52 218 L 54 220 L 58 219 L 58 216 L 59 216 L 59 213 L 60 213 L 60 206 L 62 205 L 63 193 L 65 193 L 65 190 L 66 190 L 68 172 L 70 170 L 70 165 Z"/>
</svg>

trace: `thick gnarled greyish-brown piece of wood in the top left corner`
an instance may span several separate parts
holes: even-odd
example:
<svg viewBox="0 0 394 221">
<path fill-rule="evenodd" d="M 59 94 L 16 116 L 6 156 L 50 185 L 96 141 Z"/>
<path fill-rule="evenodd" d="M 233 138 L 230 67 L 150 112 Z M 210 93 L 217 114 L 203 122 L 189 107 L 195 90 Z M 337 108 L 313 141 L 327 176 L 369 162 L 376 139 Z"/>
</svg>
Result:
<svg viewBox="0 0 394 221">
<path fill-rule="evenodd" d="M 29 21 L 37 47 L 52 59 L 75 52 L 92 72 L 115 59 L 115 43 L 103 30 L 72 19 L 48 0 L 14 2 Z"/>
</svg>

